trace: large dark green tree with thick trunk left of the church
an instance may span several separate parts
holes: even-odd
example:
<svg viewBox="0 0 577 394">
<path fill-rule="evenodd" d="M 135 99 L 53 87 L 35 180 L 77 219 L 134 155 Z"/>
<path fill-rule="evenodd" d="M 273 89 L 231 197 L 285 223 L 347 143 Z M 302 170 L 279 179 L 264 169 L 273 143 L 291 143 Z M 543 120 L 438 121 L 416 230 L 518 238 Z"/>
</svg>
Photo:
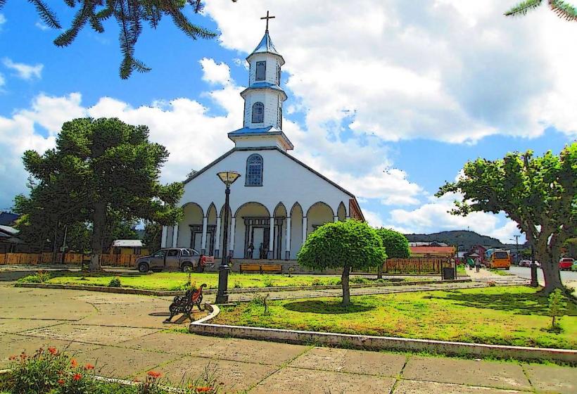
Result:
<svg viewBox="0 0 577 394">
<path fill-rule="evenodd" d="M 153 220 L 174 224 L 182 217 L 177 202 L 181 182 L 158 182 L 166 148 L 148 141 L 148 127 L 117 118 L 65 122 L 56 148 L 24 153 L 25 168 L 38 183 L 30 195 L 29 219 L 91 223 L 91 270 L 119 222 Z M 37 227 L 36 220 L 30 220 Z"/>
</svg>

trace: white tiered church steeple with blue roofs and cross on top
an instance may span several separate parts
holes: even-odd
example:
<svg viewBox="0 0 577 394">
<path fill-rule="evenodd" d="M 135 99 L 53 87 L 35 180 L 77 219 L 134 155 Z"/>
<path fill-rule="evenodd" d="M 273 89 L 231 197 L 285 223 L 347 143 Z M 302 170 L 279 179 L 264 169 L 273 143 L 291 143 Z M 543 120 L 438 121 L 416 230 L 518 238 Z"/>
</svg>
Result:
<svg viewBox="0 0 577 394">
<path fill-rule="evenodd" d="M 286 150 L 292 149 L 293 145 L 282 132 L 282 105 L 286 100 L 286 93 L 281 88 L 281 67 L 284 65 L 284 58 L 274 48 L 270 38 L 268 22 L 272 18 L 274 16 L 269 16 L 268 11 L 267 16 L 261 18 L 267 20 L 265 35 L 246 58 L 249 65 L 248 87 L 241 92 L 244 99 L 243 128 L 229 133 L 229 138 L 238 146 L 237 139 L 233 137 L 240 134 L 243 136 L 251 134 L 255 137 L 260 134 L 267 139 L 272 135 L 281 135 L 284 141 L 279 143 Z M 255 144 L 261 142 L 254 141 Z"/>
</svg>

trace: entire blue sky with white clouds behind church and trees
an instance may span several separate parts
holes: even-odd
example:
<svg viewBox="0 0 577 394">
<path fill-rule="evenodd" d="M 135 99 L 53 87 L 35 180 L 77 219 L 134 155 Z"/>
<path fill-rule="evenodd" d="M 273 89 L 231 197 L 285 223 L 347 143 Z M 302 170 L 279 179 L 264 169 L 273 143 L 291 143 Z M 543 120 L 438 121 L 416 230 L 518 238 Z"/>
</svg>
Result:
<svg viewBox="0 0 577 394">
<path fill-rule="evenodd" d="M 66 27 L 74 10 L 51 1 Z M 291 154 L 357 196 L 369 224 L 405 233 L 471 229 L 511 243 L 505 215 L 450 215 L 434 193 L 467 160 L 559 153 L 577 136 L 577 23 L 546 6 L 502 15 L 509 0 L 208 1 L 192 40 L 165 18 L 135 56 L 152 68 L 120 80 L 118 26 L 84 28 L 66 48 L 30 4 L 0 9 L 0 210 L 26 193 L 27 149 L 52 148 L 63 122 L 120 117 L 148 125 L 186 179 L 233 147 L 242 127 L 245 58 L 270 35 L 284 56 Z M 521 239 L 522 241 L 522 239 Z"/>
</svg>

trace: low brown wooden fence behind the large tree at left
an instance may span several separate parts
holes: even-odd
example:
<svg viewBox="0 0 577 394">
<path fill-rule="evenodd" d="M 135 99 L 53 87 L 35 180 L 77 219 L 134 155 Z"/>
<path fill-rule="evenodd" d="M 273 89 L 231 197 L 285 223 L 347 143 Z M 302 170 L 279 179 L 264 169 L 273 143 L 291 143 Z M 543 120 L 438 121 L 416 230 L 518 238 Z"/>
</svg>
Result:
<svg viewBox="0 0 577 394">
<path fill-rule="evenodd" d="M 139 255 L 102 255 L 101 265 L 115 267 L 135 267 Z M 39 265 L 39 264 L 82 264 L 88 263 L 90 255 L 82 253 L 4 253 L 0 254 L 0 265 Z"/>
</svg>

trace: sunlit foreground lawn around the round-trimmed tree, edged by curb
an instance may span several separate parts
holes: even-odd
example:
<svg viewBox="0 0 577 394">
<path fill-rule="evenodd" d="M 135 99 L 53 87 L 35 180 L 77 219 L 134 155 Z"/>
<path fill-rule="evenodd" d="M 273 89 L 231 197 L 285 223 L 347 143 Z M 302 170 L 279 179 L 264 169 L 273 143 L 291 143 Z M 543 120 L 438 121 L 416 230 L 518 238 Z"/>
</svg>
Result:
<svg viewBox="0 0 577 394">
<path fill-rule="evenodd" d="M 547 300 L 524 286 L 270 301 L 222 307 L 216 324 L 398 336 L 440 341 L 577 348 L 577 307 L 569 305 L 561 333 L 547 331 Z"/>
</svg>

